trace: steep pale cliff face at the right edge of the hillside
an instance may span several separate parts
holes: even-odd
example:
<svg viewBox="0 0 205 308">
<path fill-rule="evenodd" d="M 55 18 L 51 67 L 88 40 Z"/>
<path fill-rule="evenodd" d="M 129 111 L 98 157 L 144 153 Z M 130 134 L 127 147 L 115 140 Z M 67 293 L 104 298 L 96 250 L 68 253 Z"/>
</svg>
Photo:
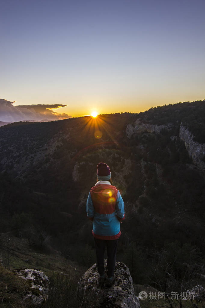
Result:
<svg viewBox="0 0 205 308">
<path fill-rule="evenodd" d="M 184 127 L 182 124 L 179 129 L 179 138 L 184 141 L 187 152 L 192 158 L 193 163 L 196 164 L 199 168 L 205 170 L 205 163 L 202 159 L 205 156 L 205 143 L 200 144 L 193 140 L 194 136 Z"/>
</svg>

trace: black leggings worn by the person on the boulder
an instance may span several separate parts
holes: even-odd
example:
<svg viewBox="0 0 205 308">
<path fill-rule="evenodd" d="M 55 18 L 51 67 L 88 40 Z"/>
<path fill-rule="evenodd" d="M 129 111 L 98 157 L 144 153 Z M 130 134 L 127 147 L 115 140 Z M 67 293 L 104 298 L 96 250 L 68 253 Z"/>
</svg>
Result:
<svg viewBox="0 0 205 308">
<path fill-rule="evenodd" d="M 105 245 L 107 245 L 107 254 L 108 254 L 107 274 L 108 278 L 111 278 L 114 274 L 114 269 L 115 269 L 118 239 L 99 240 L 98 238 L 94 237 L 94 240 L 96 246 L 96 263 L 97 263 L 98 273 L 100 274 L 100 276 L 104 274 L 104 251 L 105 251 Z"/>
</svg>

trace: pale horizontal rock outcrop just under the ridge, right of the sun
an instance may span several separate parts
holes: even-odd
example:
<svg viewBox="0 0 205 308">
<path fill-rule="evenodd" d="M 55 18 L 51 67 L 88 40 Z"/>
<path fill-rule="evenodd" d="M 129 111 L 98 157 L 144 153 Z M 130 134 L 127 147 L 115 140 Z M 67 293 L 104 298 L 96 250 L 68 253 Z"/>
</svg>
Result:
<svg viewBox="0 0 205 308">
<path fill-rule="evenodd" d="M 140 122 L 140 120 L 136 120 L 134 124 L 127 125 L 126 134 L 128 138 L 140 132 L 150 132 L 150 133 L 156 132 L 157 134 L 159 134 L 162 129 L 170 129 L 172 126 L 173 124 L 156 125 L 156 124 L 142 123 Z"/>
</svg>

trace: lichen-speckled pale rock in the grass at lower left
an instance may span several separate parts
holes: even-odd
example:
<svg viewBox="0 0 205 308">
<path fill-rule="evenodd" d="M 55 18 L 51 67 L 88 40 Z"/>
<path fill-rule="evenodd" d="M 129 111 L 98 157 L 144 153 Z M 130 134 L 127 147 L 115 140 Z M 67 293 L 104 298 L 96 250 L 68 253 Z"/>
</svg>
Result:
<svg viewBox="0 0 205 308">
<path fill-rule="evenodd" d="M 49 278 L 39 269 L 18 269 L 13 270 L 15 274 L 30 283 L 28 293 L 23 299 L 31 298 L 35 306 L 48 299 L 50 282 Z"/>
</svg>

